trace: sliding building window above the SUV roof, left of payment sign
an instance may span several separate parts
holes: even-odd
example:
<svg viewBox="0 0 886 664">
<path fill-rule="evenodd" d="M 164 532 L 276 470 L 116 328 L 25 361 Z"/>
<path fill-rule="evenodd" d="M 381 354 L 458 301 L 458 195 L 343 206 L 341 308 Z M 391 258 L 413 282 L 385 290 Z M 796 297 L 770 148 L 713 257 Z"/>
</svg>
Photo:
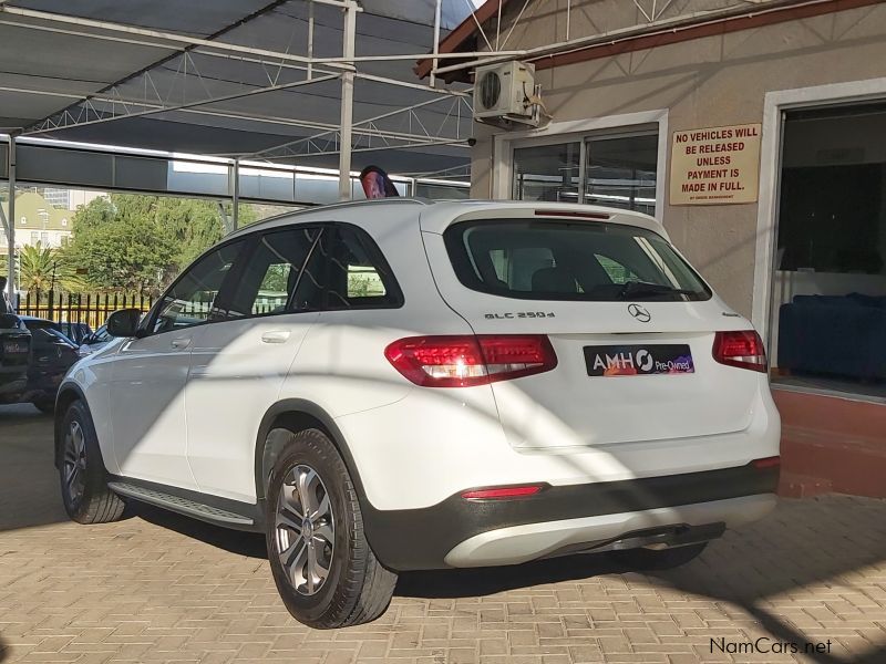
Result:
<svg viewBox="0 0 886 664">
<path fill-rule="evenodd" d="M 514 149 L 513 197 L 580 201 L 655 215 L 658 129 L 643 126 L 630 133 L 622 129 L 581 138 Z"/>
</svg>

